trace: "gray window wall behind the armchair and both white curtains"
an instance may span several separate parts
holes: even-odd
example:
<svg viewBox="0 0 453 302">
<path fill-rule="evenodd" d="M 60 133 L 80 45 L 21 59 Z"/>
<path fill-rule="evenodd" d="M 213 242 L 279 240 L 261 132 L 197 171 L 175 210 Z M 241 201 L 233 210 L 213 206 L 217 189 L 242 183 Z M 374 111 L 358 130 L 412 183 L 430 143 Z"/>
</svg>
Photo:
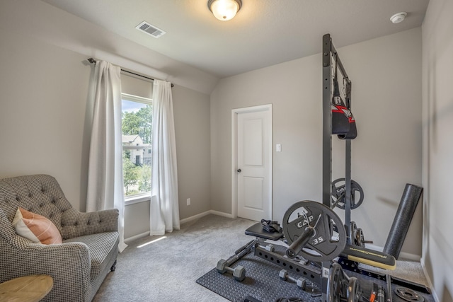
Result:
<svg viewBox="0 0 453 302">
<path fill-rule="evenodd" d="M 0 178 L 46 173 L 85 209 L 92 66 L 86 56 L 0 30 Z M 210 209 L 210 96 L 173 88 L 180 218 Z M 188 207 L 185 200 L 191 198 Z M 149 203 L 125 210 L 125 238 L 149 231 Z"/>
</svg>

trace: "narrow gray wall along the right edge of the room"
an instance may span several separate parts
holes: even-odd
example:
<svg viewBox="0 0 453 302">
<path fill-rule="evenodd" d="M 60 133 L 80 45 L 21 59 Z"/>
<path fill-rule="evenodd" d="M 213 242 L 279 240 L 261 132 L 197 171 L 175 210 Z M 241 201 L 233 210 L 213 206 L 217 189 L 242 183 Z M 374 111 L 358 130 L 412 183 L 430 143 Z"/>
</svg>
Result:
<svg viewBox="0 0 453 302">
<path fill-rule="evenodd" d="M 453 1 L 430 1 L 423 23 L 423 265 L 453 301 Z"/>
</svg>

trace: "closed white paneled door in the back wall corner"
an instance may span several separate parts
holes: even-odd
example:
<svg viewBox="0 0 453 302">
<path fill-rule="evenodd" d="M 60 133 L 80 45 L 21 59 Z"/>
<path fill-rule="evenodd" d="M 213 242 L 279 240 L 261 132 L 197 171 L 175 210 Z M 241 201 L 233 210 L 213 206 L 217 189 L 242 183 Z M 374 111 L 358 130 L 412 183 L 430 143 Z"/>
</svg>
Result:
<svg viewBox="0 0 453 302">
<path fill-rule="evenodd" d="M 237 216 L 272 219 L 272 106 L 241 108 L 234 114 Z"/>
</svg>

